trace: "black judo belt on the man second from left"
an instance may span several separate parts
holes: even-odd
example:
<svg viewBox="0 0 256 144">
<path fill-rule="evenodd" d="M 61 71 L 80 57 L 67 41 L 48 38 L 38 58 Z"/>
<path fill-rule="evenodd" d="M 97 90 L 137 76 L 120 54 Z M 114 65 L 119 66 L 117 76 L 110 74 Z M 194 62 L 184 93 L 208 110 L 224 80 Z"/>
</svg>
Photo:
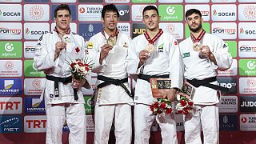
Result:
<svg viewBox="0 0 256 144">
<path fill-rule="evenodd" d="M 105 86 L 109 86 L 111 84 L 115 85 L 115 86 L 121 86 L 124 90 L 126 90 L 126 93 L 130 96 L 130 97 L 133 97 L 133 95 L 130 93 L 130 91 L 127 89 L 127 87 L 123 84 L 125 82 L 128 82 L 128 78 L 123 78 L 123 79 L 114 79 L 114 78 L 108 78 L 108 77 L 105 77 L 103 75 L 98 75 L 98 80 L 101 80 L 101 81 L 104 81 L 102 83 L 100 83 L 98 86 L 97 86 L 97 89 L 98 88 L 102 88 L 102 87 L 105 87 Z"/>
</svg>

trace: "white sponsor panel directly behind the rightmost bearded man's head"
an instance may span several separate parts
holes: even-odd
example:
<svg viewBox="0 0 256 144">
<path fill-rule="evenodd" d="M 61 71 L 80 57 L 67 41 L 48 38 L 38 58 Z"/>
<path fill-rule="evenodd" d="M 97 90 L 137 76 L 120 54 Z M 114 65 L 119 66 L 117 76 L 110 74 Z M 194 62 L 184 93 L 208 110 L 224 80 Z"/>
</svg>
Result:
<svg viewBox="0 0 256 144">
<path fill-rule="evenodd" d="M 210 6 L 209 5 L 186 5 L 184 14 L 186 14 L 186 11 L 190 10 L 190 9 L 200 10 L 200 12 L 202 14 L 202 19 L 204 22 L 210 20 Z M 186 18 L 184 18 L 184 19 L 186 20 Z"/>
</svg>

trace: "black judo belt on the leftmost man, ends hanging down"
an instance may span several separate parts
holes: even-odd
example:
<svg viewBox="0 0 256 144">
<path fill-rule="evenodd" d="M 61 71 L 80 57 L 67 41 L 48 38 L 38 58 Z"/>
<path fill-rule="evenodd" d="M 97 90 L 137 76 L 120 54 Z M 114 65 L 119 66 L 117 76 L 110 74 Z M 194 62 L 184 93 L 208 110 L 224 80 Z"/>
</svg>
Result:
<svg viewBox="0 0 256 144">
<path fill-rule="evenodd" d="M 54 77 L 50 75 L 46 75 L 46 79 L 50 81 L 54 81 L 54 95 L 55 97 L 58 97 L 58 82 L 62 83 L 68 83 L 72 82 L 72 77 L 67 77 L 67 78 L 59 78 L 59 77 Z M 78 100 L 78 91 L 74 89 L 74 100 Z"/>
</svg>

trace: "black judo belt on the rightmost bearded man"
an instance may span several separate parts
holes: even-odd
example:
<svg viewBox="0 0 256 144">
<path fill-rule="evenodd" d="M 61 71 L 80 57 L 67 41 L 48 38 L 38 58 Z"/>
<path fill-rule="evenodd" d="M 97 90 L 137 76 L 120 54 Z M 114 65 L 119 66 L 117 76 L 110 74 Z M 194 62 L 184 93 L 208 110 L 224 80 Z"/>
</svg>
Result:
<svg viewBox="0 0 256 144">
<path fill-rule="evenodd" d="M 202 80 L 198 80 L 198 79 L 186 79 L 186 82 L 189 82 L 191 85 L 193 85 L 194 87 L 199 87 L 199 86 L 206 86 L 206 87 L 209 87 L 211 89 L 214 89 L 214 90 L 221 90 L 222 92 L 228 92 L 229 89 L 226 88 L 226 87 L 222 87 L 222 86 L 218 86 L 218 85 L 214 85 L 214 84 L 211 84 L 210 82 L 215 82 L 217 81 L 217 78 L 216 77 L 211 77 L 211 78 L 205 78 L 205 79 L 202 79 Z"/>
</svg>

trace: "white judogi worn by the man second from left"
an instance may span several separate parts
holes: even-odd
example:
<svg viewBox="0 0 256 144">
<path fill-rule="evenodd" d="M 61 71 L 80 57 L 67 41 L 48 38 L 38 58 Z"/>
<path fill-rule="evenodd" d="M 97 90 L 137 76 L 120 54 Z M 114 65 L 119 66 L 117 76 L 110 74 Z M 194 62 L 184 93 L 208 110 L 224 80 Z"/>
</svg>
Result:
<svg viewBox="0 0 256 144">
<path fill-rule="evenodd" d="M 105 33 L 105 32 L 104 32 Z M 106 44 L 109 36 L 105 33 L 95 34 L 88 42 L 90 54 L 94 54 L 95 68 L 93 72 L 108 78 L 122 79 L 127 78 L 126 57 L 130 49 L 130 38 L 120 32 L 117 37 L 116 45 L 110 50 L 109 54 L 99 63 L 101 47 Z M 97 80 L 96 85 L 103 81 Z M 124 85 L 130 90 L 128 82 Z M 110 128 L 114 120 L 116 143 L 131 143 L 132 121 L 131 106 L 134 105 L 131 98 L 121 86 L 109 85 L 99 88 L 95 94 L 95 133 L 94 143 L 108 143 Z"/>
</svg>

